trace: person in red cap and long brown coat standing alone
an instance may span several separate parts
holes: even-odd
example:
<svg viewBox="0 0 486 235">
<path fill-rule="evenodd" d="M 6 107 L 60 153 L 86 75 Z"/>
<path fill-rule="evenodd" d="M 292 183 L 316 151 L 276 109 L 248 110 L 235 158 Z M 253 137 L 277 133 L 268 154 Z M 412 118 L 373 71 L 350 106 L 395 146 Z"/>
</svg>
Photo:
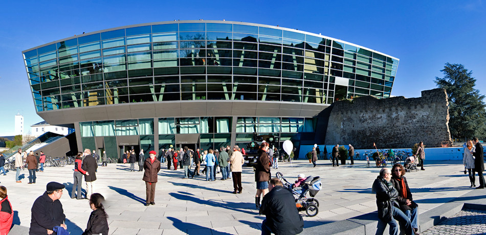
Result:
<svg viewBox="0 0 486 235">
<path fill-rule="evenodd" d="M 157 176 L 160 171 L 160 161 L 155 157 L 157 155 L 156 151 L 148 152 L 150 156 L 147 158 L 143 164 L 143 169 L 145 170 L 142 180 L 145 181 L 145 188 L 147 193 L 147 200 L 145 206 L 150 204 L 155 205 L 155 185 L 157 183 Z"/>
</svg>

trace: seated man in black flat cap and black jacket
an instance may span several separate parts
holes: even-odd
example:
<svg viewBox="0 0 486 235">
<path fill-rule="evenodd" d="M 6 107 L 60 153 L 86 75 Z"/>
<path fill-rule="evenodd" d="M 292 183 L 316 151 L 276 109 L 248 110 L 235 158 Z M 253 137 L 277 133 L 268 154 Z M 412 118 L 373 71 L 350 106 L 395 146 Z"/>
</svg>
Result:
<svg viewBox="0 0 486 235">
<path fill-rule="evenodd" d="M 66 216 L 59 201 L 62 189 L 64 185 L 50 182 L 46 186 L 46 192 L 35 199 L 31 209 L 29 234 L 52 234 L 55 226 L 67 229 L 64 224 Z"/>
</svg>

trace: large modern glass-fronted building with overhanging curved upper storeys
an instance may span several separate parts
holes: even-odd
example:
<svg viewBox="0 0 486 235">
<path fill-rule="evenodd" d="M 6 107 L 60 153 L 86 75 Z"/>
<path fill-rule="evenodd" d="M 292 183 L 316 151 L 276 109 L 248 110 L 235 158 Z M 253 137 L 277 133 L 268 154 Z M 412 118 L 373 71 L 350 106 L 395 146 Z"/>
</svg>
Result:
<svg viewBox="0 0 486 235">
<path fill-rule="evenodd" d="M 97 148 L 99 143 L 120 146 L 109 140 L 117 136 L 139 136 L 140 146 L 155 149 L 157 143 L 175 145 L 174 136 L 183 134 L 197 134 L 200 146 L 249 142 L 253 132 L 276 134 L 281 141 L 314 141 L 308 135 L 316 131 L 316 116 L 333 101 L 389 97 L 399 63 L 313 33 L 207 20 L 87 33 L 37 46 L 23 56 L 37 113 L 50 124 L 74 124 L 78 142 Z M 185 116 L 182 106 L 198 102 L 205 104 L 204 113 Z M 159 106 L 141 105 L 154 103 Z M 231 111 L 248 104 L 274 104 L 269 108 L 275 112 Z M 75 110 L 115 112 L 113 107 L 123 106 L 150 112 L 128 119 L 110 111 L 104 117 L 76 118 Z M 294 112 L 283 112 L 285 106 Z M 179 111 L 161 113 L 158 107 Z M 55 113 L 63 115 L 54 118 Z M 96 137 L 103 141 L 84 140 Z"/>
</svg>

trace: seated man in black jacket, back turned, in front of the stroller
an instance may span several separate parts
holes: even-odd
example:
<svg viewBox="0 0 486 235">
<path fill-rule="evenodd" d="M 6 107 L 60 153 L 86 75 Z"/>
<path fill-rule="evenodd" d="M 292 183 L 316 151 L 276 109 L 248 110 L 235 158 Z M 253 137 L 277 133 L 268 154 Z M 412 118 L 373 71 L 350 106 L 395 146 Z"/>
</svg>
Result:
<svg viewBox="0 0 486 235">
<path fill-rule="evenodd" d="M 295 207 L 295 199 L 282 182 L 273 178 L 268 186 L 269 193 L 263 197 L 260 214 L 266 215 L 261 222 L 261 234 L 298 234 L 303 231 L 304 221 Z"/>
</svg>

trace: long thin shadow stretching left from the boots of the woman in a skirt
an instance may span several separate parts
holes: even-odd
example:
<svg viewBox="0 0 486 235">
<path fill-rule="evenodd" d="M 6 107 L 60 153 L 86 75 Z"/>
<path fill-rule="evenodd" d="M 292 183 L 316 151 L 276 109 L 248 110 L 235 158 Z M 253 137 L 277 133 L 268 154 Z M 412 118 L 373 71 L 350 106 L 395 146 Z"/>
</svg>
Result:
<svg viewBox="0 0 486 235">
<path fill-rule="evenodd" d="M 201 204 L 201 205 L 210 205 L 210 206 L 214 206 L 214 207 L 220 207 L 220 208 L 227 208 L 227 209 L 230 209 L 230 210 L 235 210 L 236 212 L 247 213 L 247 214 L 255 214 L 251 210 L 245 210 L 245 209 L 252 208 L 252 206 L 254 208 L 255 204 L 253 204 L 253 203 L 245 203 L 245 202 L 236 203 L 236 202 L 225 202 L 225 201 L 220 201 L 220 200 L 203 200 L 203 199 L 194 197 L 193 194 L 186 193 L 186 192 L 169 193 L 169 195 L 171 197 L 174 197 L 175 199 L 191 201 L 191 202 L 195 202 L 195 203 Z"/>
</svg>

